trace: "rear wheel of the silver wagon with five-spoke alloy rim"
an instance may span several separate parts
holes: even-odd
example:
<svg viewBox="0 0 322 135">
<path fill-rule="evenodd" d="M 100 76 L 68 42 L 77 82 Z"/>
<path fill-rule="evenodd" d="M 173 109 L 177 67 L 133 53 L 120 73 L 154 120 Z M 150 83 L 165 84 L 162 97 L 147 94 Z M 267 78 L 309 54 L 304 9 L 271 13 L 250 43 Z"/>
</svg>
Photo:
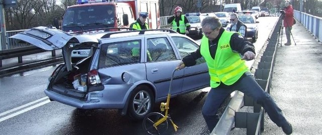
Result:
<svg viewBox="0 0 322 135">
<path fill-rule="evenodd" d="M 139 85 L 130 96 L 128 116 L 133 120 L 143 119 L 152 111 L 153 106 L 154 96 L 152 90 L 146 85 Z"/>
</svg>

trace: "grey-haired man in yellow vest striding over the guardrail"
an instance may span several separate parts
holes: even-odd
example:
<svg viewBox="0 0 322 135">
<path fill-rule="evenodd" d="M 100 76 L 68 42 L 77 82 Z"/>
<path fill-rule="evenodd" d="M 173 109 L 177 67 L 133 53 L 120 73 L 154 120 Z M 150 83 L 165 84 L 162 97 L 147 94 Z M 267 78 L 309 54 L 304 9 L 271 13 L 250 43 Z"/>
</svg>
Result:
<svg viewBox="0 0 322 135">
<path fill-rule="evenodd" d="M 209 131 L 213 130 L 219 120 L 217 110 L 221 103 L 232 91 L 239 90 L 253 97 L 264 107 L 277 126 L 282 127 L 286 134 L 291 134 L 292 126 L 282 110 L 270 94 L 255 81 L 245 63 L 245 60 L 255 58 L 254 45 L 239 33 L 221 27 L 220 19 L 216 16 L 205 17 L 201 27 L 204 36 L 200 47 L 185 56 L 176 68 L 183 69 L 185 66 L 199 64 L 200 58 L 207 63 L 211 89 L 202 107 L 202 115 Z"/>
</svg>

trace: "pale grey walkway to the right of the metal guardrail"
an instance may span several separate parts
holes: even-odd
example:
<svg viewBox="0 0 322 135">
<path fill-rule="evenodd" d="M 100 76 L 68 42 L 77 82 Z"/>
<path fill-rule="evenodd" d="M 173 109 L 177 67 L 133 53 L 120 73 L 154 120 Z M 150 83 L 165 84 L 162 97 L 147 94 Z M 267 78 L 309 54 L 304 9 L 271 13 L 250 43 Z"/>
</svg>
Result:
<svg viewBox="0 0 322 135">
<path fill-rule="evenodd" d="M 285 30 L 285 28 L 284 28 Z M 293 126 L 293 134 L 322 134 L 322 45 L 299 22 L 291 30 L 292 44 L 278 44 L 271 95 Z M 265 114 L 262 134 L 283 134 Z"/>
</svg>

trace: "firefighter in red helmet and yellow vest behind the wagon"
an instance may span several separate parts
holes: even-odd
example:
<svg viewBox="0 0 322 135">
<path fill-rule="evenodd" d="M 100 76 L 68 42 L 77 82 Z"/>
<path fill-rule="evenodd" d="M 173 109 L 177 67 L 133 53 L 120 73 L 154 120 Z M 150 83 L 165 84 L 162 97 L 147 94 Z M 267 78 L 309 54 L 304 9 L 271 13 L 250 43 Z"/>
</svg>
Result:
<svg viewBox="0 0 322 135">
<path fill-rule="evenodd" d="M 186 34 L 190 29 L 190 22 L 185 15 L 182 14 L 182 8 L 177 6 L 175 14 L 168 19 L 168 23 L 172 24 L 172 29 L 178 33 Z"/>
</svg>

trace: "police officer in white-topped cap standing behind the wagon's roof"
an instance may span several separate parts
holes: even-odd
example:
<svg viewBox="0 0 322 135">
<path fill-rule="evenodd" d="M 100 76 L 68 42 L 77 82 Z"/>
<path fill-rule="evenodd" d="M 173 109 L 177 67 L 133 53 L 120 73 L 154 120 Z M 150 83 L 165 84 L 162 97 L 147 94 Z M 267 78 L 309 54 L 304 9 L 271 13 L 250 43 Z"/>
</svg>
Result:
<svg viewBox="0 0 322 135">
<path fill-rule="evenodd" d="M 149 29 L 149 25 L 145 22 L 148 14 L 149 13 L 145 11 L 139 12 L 139 18 L 137 18 L 136 21 L 130 25 L 130 27 L 137 30 Z"/>
</svg>

